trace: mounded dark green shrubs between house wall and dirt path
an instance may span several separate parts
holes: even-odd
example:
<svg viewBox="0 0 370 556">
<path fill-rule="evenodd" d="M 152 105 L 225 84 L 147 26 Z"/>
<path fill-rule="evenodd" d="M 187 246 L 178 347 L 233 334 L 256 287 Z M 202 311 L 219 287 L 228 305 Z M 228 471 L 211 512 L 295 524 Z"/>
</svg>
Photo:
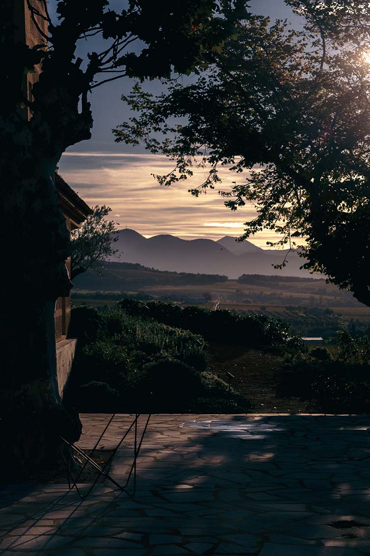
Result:
<svg viewBox="0 0 370 556">
<path fill-rule="evenodd" d="M 243 396 L 233 390 L 229 396 L 224 381 L 206 371 L 200 335 L 128 316 L 118 307 L 100 314 L 92 307 L 75 307 L 72 322 L 75 334 L 79 328 L 84 334 L 84 342 L 64 394 L 69 406 L 144 412 L 189 411 L 196 406 L 201 411 L 201 400 L 209 400 L 204 403 L 215 410 L 249 410 Z"/>
</svg>

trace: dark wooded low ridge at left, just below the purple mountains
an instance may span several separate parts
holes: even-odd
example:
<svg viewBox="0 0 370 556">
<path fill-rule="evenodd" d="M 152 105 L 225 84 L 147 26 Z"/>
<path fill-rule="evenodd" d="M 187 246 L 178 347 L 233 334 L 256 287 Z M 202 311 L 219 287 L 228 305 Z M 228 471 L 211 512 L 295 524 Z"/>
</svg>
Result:
<svg viewBox="0 0 370 556">
<path fill-rule="evenodd" d="M 76 277 L 74 284 L 83 290 L 132 291 L 144 286 L 186 286 L 226 282 L 227 276 L 220 274 L 191 274 L 191 272 L 170 272 L 150 269 L 138 263 L 104 262 L 102 271 L 97 274 L 88 270 Z"/>
</svg>

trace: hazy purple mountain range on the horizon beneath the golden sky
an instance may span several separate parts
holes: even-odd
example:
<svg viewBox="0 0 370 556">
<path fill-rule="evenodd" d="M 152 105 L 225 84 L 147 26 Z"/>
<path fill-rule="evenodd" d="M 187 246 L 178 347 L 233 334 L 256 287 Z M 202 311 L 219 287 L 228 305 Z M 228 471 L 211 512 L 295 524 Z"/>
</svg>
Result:
<svg viewBox="0 0 370 556">
<path fill-rule="evenodd" d="M 169 234 L 149 237 L 135 230 L 124 229 L 118 234 L 110 261 L 138 262 L 158 270 L 223 274 L 235 279 L 242 274 L 315 277 L 307 270 L 300 270 L 305 262 L 296 251 L 287 257 L 282 270 L 273 265 L 281 264 L 287 250 L 261 249 L 250 241 L 238 243 L 235 237 L 220 240 L 183 240 Z M 322 276 L 317 276 L 321 277 Z"/>
</svg>

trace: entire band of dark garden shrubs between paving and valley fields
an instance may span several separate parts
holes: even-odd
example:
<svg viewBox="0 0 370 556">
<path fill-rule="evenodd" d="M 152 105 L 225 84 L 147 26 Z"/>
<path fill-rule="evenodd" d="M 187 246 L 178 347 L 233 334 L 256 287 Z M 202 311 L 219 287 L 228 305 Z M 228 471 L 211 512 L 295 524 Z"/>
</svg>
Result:
<svg viewBox="0 0 370 556">
<path fill-rule="evenodd" d="M 305 318 L 335 317 L 328 309 L 306 310 Z M 244 395 L 231 389 L 229 396 L 223 380 L 230 358 L 221 355 L 230 350 L 235 360 L 237 354 L 246 354 L 241 358 L 246 383 L 253 366 L 249 354 L 256 358 L 259 350 L 252 390 L 253 381 L 259 384 L 259 373 L 267 373 L 266 366 L 273 366 L 276 359 L 277 375 L 272 380 L 277 383 L 277 398 L 308 400 L 303 405 L 312 402 L 319 411 L 370 411 L 366 335 L 353 337 L 341 331 L 335 345 L 310 349 L 286 323 L 271 316 L 134 299 L 122 299 L 101 311 L 74 307 L 70 334 L 79 337 L 79 347 L 65 402 L 79 411 L 246 413 L 251 410 L 245 397 L 248 388 L 243 387 Z M 236 372 L 234 365 L 230 371 Z M 242 373 L 237 371 L 238 376 Z"/>
</svg>

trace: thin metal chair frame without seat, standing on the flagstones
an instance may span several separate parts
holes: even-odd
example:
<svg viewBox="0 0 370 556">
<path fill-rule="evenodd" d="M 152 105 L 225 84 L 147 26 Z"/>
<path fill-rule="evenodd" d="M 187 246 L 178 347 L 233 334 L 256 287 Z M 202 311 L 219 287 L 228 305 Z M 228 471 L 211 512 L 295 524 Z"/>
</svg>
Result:
<svg viewBox="0 0 370 556">
<path fill-rule="evenodd" d="M 102 434 L 99 436 L 99 439 L 97 440 L 97 442 L 95 443 L 94 448 L 90 451 L 90 454 L 87 455 L 82 449 L 80 449 L 78 446 L 75 446 L 74 444 L 71 444 L 70 442 L 68 442 L 68 440 L 65 440 L 65 438 L 63 438 L 63 436 L 60 436 L 60 439 L 65 443 L 68 444 L 68 446 L 70 446 L 70 448 L 73 449 L 73 451 L 75 453 L 77 453 L 80 457 L 85 459 L 85 463 L 82 467 L 82 469 L 79 470 L 77 477 L 74 477 L 72 470 L 70 469 L 69 466 L 69 462 L 67 461 L 67 459 L 65 458 L 65 455 L 63 454 L 63 450 L 62 448 L 59 446 L 59 452 L 60 455 L 63 458 L 65 467 L 67 469 L 67 478 L 68 478 L 68 489 L 72 490 L 73 488 L 75 488 L 80 496 L 80 498 L 87 498 L 88 495 L 90 494 L 90 492 L 93 490 L 95 484 L 97 484 L 99 477 L 104 475 L 106 479 L 110 480 L 111 483 L 113 483 L 117 488 L 119 488 L 120 490 L 122 490 L 123 492 L 125 492 L 126 494 L 128 494 L 130 497 L 133 497 L 136 493 L 136 462 L 138 459 L 138 455 L 139 455 L 139 451 L 141 448 L 141 444 L 143 444 L 143 440 L 144 440 L 144 436 L 146 433 L 146 429 L 148 428 L 148 424 L 149 424 L 149 420 L 150 420 L 150 414 L 148 415 L 148 418 L 146 419 L 146 423 L 144 426 L 144 429 L 141 433 L 141 437 L 140 440 L 138 441 L 138 419 L 140 417 L 140 413 L 136 413 L 135 414 L 135 419 L 133 420 L 133 422 L 130 424 L 129 428 L 125 431 L 124 435 L 122 436 L 121 440 L 119 441 L 118 445 L 116 446 L 116 448 L 113 450 L 113 453 L 109 456 L 108 460 L 105 461 L 103 467 L 100 467 L 100 465 L 98 465 L 93 459 L 92 456 L 95 452 L 95 450 L 97 449 L 100 441 L 102 440 L 104 434 L 107 432 L 109 425 L 111 424 L 111 422 L 113 421 L 114 417 L 115 417 L 115 413 L 113 413 L 113 415 L 111 416 L 111 418 L 109 419 L 107 425 L 105 425 L 105 428 L 102 432 Z M 117 481 L 115 481 L 113 479 L 113 477 L 111 477 L 109 475 L 109 473 L 106 473 L 105 468 L 107 468 L 108 464 L 111 462 L 111 460 L 113 460 L 116 451 L 118 450 L 118 448 L 120 447 L 120 445 L 123 443 L 123 441 L 125 440 L 126 436 L 129 434 L 130 430 L 134 428 L 134 459 L 133 459 L 133 463 L 130 466 L 130 470 L 129 470 L 129 474 L 128 477 L 126 479 L 125 484 L 120 485 L 119 483 L 117 483 Z M 92 465 L 95 469 L 97 469 L 98 474 L 97 474 L 97 478 L 94 480 L 94 483 L 90 486 L 89 490 L 87 493 L 85 493 L 84 495 L 80 492 L 80 489 L 77 486 L 77 481 L 80 477 L 80 475 L 83 473 L 85 467 L 90 464 Z M 128 485 L 131 479 L 131 475 L 134 475 L 134 489 L 133 492 L 130 493 L 128 491 Z"/>
</svg>

